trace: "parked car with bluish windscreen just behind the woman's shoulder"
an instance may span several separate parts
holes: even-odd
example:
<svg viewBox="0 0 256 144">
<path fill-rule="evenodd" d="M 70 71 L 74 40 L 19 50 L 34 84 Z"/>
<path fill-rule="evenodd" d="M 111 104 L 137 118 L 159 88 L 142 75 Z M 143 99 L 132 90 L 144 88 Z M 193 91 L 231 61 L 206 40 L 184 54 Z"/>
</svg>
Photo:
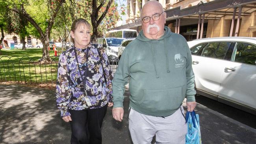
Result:
<svg viewBox="0 0 256 144">
<path fill-rule="evenodd" d="M 115 61 L 115 59 L 118 59 L 117 53 L 118 53 L 118 47 L 121 45 L 122 41 L 124 39 L 122 38 L 99 38 L 98 43 L 103 45 L 103 48 L 106 49 L 106 54 L 108 55 L 109 62 Z"/>
</svg>

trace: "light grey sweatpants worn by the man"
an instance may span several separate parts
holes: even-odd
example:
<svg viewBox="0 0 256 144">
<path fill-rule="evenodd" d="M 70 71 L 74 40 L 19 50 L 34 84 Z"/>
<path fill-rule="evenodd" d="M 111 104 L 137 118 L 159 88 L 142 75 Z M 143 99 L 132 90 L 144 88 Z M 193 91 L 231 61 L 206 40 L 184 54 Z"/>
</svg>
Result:
<svg viewBox="0 0 256 144">
<path fill-rule="evenodd" d="M 185 144 L 187 134 L 184 109 L 166 117 L 149 116 L 134 109 L 129 114 L 129 130 L 134 144 L 151 144 L 156 135 L 155 144 Z"/>
</svg>

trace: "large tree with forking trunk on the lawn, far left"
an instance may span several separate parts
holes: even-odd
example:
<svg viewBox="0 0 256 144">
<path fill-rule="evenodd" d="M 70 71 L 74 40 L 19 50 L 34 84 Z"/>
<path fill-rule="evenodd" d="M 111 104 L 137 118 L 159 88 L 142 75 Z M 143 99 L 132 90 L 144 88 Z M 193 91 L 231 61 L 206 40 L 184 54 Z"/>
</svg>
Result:
<svg viewBox="0 0 256 144">
<path fill-rule="evenodd" d="M 43 43 L 42 59 L 44 57 L 49 57 L 48 46 L 50 31 L 54 24 L 54 19 L 56 18 L 57 13 L 64 2 L 65 0 L 0 0 L 0 3 L 4 4 L 7 9 L 19 14 L 20 17 L 30 22 L 30 24 L 32 24 L 38 31 L 40 40 Z M 46 14 L 44 13 L 42 15 L 45 15 L 45 17 L 49 18 L 45 20 L 47 25 L 45 31 L 42 30 L 44 28 L 40 27 L 40 24 L 37 22 L 35 17 L 33 17 L 33 14 L 27 12 L 29 7 L 42 7 L 44 4 L 46 4 L 45 7 L 47 7 L 47 11 Z M 45 61 L 50 61 L 50 58 L 46 58 Z"/>
</svg>

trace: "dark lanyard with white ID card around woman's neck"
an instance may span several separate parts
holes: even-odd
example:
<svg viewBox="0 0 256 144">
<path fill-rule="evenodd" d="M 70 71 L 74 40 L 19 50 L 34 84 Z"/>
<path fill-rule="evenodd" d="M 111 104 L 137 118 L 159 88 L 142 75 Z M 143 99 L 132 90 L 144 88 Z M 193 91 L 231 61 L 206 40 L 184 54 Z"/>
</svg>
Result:
<svg viewBox="0 0 256 144">
<path fill-rule="evenodd" d="M 82 75 L 82 72 L 80 70 L 80 66 L 79 66 L 79 62 L 78 62 L 78 58 L 77 58 L 77 54 L 76 54 L 76 50 L 75 50 L 75 47 L 74 48 L 74 53 L 75 53 L 75 56 L 76 56 L 76 63 L 78 65 L 78 70 L 79 70 L 79 73 L 80 73 L 80 76 L 82 78 L 82 81 L 83 81 L 83 89 L 84 89 L 84 93 L 85 93 L 85 96 L 83 98 L 83 100 L 85 100 L 85 102 L 87 103 L 87 106 L 88 107 L 91 107 L 92 104 L 88 98 L 88 95 L 87 95 L 87 91 L 86 91 L 86 76 L 87 76 L 87 65 L 88 65 L 88 53 L 89 53 L 89 48 L 87 47 L 86 48 L 86 62 L 85 62 L 85 72 L 84 72 L 84 78 L 83 78 L 83 75 Z"/>
</svg>

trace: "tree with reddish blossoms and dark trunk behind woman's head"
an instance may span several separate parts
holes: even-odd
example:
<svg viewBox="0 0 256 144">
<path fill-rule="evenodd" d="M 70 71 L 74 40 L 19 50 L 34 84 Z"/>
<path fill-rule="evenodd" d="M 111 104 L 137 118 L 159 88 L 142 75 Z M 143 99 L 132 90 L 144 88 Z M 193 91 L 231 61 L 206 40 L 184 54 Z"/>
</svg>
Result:
<svg viewBox="0 0 256 144">
<path fill-rule="evenodd" d="M 98 11 L 93 9 L 93 2 L 98 6 Z M 56 17 L 56 23 L 54 24 L 56 26 L 53 28 L 54 35 L 57 35 L 57 33 L 67 33 L 67 37 L 70 37 L 69 31 L 72 21 L 77 18 L 84 18 L 92 23 L 91 19 L 95 15 L 97 24 L 95 26 L 92 24 L 92 38 L 103 35 L 103 31 L 113 28 L 120 18 L 117 6 L 117 2 L 113 2 L 113 0 L 69 0 L 61 7 Z M 92 41 L 94 40 L 92 39 Z"/>
</svg>

